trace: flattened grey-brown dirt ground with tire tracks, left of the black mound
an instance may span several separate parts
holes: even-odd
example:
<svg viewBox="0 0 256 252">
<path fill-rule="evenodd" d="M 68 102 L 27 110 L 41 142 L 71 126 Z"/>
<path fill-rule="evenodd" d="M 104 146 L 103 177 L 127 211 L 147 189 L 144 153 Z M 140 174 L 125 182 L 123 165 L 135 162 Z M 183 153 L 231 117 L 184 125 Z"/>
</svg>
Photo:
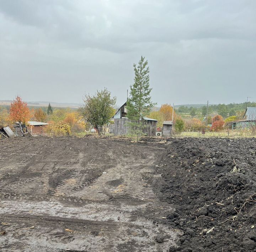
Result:
<svg viewBox="0 0 256 252">
<path fill-rule="evenodd" d="M 161 144 L 30 137 L 0 148 L 0 251 L 164 252 L 177 241 L 154 190 Z"/>
</svg>

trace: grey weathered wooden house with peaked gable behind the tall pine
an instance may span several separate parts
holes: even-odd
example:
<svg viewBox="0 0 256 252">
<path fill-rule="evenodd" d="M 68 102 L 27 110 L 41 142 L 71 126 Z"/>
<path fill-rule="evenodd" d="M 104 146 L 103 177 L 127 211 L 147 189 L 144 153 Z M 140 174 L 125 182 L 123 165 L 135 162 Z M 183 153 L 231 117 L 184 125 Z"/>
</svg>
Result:
<svg viewBox="0 0 256 252">
<path fill-rule="evenodd" d="M 117 110 L 116 114 L 112 117 L 114 120 L 114 135 L 115 136 L 125 136 L 129 133 L 128 122 L 130 120 L 127 117 L 126 102 Z M 147 136 L 155 136 L 156 126 L 158 120 L 151 119 L 148 117 L 142 118 L 143 122 L 143 133 Z"/>
</svg>

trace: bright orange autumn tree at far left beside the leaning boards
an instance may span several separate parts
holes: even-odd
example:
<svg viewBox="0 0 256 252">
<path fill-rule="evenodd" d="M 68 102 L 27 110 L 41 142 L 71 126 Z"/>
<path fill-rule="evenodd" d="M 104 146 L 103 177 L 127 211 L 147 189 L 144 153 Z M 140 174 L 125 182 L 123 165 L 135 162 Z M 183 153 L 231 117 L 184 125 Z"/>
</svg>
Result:
<svg viewBox="0 0 256 252">
<path fill-rule="evenodd" d="M 30 120 L 30 110 L 27 103 L 23 102 L 19 96 L 16 96 L 14 102 L 11 103 L 10 120 L 20 123 L 26 123 Z"/>
</svg>

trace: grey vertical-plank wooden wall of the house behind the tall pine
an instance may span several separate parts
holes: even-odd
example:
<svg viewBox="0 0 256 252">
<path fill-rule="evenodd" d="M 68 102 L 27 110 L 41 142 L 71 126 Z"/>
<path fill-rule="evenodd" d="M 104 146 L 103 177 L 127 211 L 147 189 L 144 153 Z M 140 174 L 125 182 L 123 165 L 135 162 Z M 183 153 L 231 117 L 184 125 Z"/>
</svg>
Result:
<svg viewBox="0 0 256 252">
<path fill-rule="evenodd" d="M 114 119 L 114 135 L 115 136 L 125 136 L 129 133 L 128 123 L 130 120 L 128 118 L 117 118 Z M 147 121 L 143 120 L 143 133 L 147 136 L 155 136 L 157 121 Z"/>
</svg>

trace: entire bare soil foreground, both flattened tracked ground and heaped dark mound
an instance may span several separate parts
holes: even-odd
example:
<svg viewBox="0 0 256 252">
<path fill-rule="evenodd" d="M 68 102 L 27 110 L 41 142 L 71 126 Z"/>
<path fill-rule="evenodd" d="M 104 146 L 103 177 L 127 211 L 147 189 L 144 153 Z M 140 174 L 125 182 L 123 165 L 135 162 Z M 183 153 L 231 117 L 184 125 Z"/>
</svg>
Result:
<svg viewBox="0 0 256 252">
<path fill-rule="evenodd" d="M 0 251 L 256 251 L 256 139 L 0 141 Z"/>
</svg>

